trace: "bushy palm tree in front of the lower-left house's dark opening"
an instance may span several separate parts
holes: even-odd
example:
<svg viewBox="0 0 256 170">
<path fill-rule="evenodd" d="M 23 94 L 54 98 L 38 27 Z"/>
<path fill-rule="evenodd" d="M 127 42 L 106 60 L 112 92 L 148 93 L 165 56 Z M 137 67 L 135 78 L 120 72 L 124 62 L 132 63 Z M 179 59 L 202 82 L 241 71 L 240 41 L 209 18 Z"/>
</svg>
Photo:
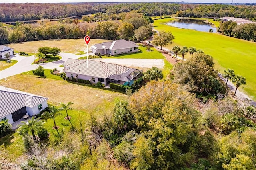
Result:
<svg viewBox="0 0 256 170">
<path fill-rule="evenodd" d="M 40 118 L 35 119 L 32 117 L 30 120 L 28 120 L 28 123 L 22 121 L 22 125 L 19 127 L 19 131 L 21 134 L 25 135 L 28 134 L 29 132 L 32 133 L 34 141 L 36 140 L 36 135 L 35 132 L 42 131 L 44 126 L 43 120 L 39 120 Z"/>
</svg>

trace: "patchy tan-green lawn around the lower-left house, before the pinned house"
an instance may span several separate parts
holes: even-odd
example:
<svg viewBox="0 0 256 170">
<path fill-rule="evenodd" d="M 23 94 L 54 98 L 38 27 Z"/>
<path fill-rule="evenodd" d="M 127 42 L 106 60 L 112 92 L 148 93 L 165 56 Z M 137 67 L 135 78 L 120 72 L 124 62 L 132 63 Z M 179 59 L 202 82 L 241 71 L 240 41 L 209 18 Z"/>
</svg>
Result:
<svg viewBox="0 0 256 170">
<path fill-rule="evenodd" d="M 60 102 L 73 102 L 73 110 L 69 110 L 68 114 L 72 118 L 70 121 L 75 127 L 78 127 L 79 119 L 84 121 L 90 118 L 90 114 L 96 117 L 102 116 L 104 113 L 110 113 L 114 107 L 114 99 L 129 100 L 126 94 L 111 91 L 106 88 L 98 88 L 93 85 L 79 85 L 63 80 L 60 76 L 50 74 L 50 70 L 45 70 L 46 78 L 34 76 L 32 71 L 12 76 L 7 81 L 0 81 L 1 86 L 19 89 L 24 92 L 40 95 L 49 98 L 48 102 L 59 106 Z M 66 112 L 61 111 L 62 115 L 56 117 L 56 124 L 62 130 L 68 131 L 71 127 L 68 120 L 65 120 Z M 54 141 L 58 138 L 53 119 L 48 119 L 44 123 L 46 129 L 50 133 L 50 140 Z M 0 139 L 0 160 L 18 162 L 24 160 L 24 146 L 22 137 L 18 133 L 7 135 Z"/>
</svg>

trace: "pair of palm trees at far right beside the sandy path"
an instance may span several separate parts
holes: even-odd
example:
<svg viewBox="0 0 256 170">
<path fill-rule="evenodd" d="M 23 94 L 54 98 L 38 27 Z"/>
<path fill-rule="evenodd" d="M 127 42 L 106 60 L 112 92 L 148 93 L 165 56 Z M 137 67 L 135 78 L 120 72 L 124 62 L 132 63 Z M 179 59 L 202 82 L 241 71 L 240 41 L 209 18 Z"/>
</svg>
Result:
<svg viewBox="0 0 256 170">
<path fill-rule="evenodd" d="M 227 79 L 226 85 L 228 84 L 228 79 L 231 78 L 231 81 L 236 84 L 236 91 L 238 87 L 240 87 L 242 84 L 246 84 L 246 78 L 240 75 L 235 75 L 234 70 L 227 69 L 224 70 L 224 74 L 222 74 L 224 78 Z M 236 91 L 234 93 L 234 96 L 236 95 Z"/>
</svg>

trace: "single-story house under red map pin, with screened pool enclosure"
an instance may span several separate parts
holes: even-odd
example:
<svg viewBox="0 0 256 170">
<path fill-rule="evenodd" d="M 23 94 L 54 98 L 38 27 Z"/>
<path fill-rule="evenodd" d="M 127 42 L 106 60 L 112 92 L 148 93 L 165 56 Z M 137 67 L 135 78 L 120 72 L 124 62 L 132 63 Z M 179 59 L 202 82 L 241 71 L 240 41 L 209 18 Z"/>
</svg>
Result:
<svg viewBox="0 0 256 170">
<path fill-rule="evenodd" d="M 66 77 L 89 80 L 93 84 L 101 82 L 106 86 L 110 83 L 131 86 L 142 76 L 142 70 L 99 60 L 88 60 L 88 68 L 85 59 L 68 59 L 63 65 Z"/>
</svg>

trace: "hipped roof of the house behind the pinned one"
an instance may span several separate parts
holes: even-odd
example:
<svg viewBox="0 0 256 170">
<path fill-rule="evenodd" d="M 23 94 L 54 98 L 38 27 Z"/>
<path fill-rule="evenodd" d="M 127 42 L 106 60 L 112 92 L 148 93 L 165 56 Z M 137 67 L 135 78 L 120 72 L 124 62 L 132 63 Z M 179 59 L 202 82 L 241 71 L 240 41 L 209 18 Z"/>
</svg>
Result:
<svg viewBox="0 0 256 170">
<path fill-rule="evenodd" d="M 126 41 L 124 39 L 118 39 L 116 41 L 108 41 L 104 43 L 94 44 L 91 48 L 93 49 L 110 49 L 110 50 L 118 50 L 118 49 L 127 49 L 139 47 L 136 43 L 132 41 Z"/>
</svg>

